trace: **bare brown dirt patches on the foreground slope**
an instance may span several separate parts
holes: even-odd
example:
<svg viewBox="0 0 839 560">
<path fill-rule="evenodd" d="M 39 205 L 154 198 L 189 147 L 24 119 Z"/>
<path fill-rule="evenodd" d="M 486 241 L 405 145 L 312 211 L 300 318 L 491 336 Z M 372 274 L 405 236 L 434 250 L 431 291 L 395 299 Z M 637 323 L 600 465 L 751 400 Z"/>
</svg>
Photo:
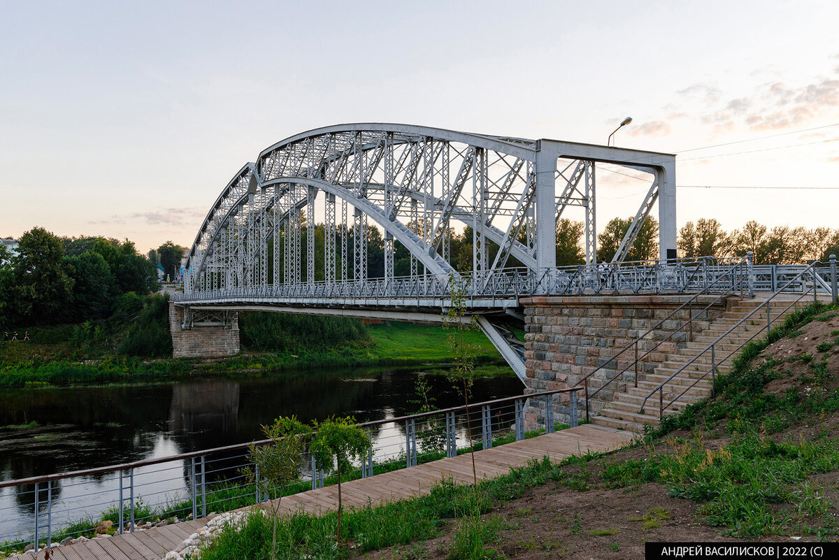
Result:
<svg viewBox="0 0 839 560">
<path fill-rule="evenodd" d="M 778 366 L 783 371 L 781 379 L 771 381 L 767 391 L 783 393 L 789 387 L 800 390 L 826 391 L 839 385 L 839 344 L 827 350 L 818 345 L 836 342 L 839 316 L 825 321 L 812 321 L 792 339 L 784 339 L 763 352 L 763 360 L 787 360 L 790 357 L 811 355 L 812 360 L 788 360 Z M 811 364 L 828 360 L 830 378 L 814 379 Z M 759 363 L 755 362 L 755 363 Z M 784 433 L 773 434 L 780 442 L 787 438 L 808 438 L 829 429 L 839 433 L 839 417 L 821 417 L 802 420 Z M 707 434 L 709 449 L 727 443 L 724 423 L 714 433 Z M 670 437 L 690 438 L 689 433 L 672 433 Z M 657 451 L 663 452 L 665 445 Z M 609 456 L 610 462 L 639 459 L 646 451 L 642 448 L 623 449 Z M 721 535 L 724 527 L 713 527 L 702 521 L 693 501 L 671 498 L 667 489 L 659 484 L 640 485 L 628 489 L 608 489 L 600 482 L 601 462 L 589 465 L 588 483 L 591 490 L 576 490 L 565 485 L 549 483 L 529 490 L 527 495 L 511 500 L 484 519 L 500 516 L 504 527 L 498 532 L 501 542 L 490 545 L 503 552 L 505 557 L 516 559 L 569 558 L 643 558 L 644 542 L 699 542 L 736 541 Z M 569 467 L 572 472 L 577 467 Z M 839 517 L 839 472 L 816 474 L 810 480 L 821 485 L 826 498 L 833 503 L 832 515 Z M 440 537 L 414 542 L 408 546 L 391 547 L 356 558 L 370 560 L 441 560 L 449 552 L 449 545 L 456 520 L 448 520 Z M 793 537 L 768 537 L 766 541 L 787 541 Z M 753 539 L 751 539 L 753 540 Z M 801 541 L 815 540 L 801 537 Z"/>
</svg>

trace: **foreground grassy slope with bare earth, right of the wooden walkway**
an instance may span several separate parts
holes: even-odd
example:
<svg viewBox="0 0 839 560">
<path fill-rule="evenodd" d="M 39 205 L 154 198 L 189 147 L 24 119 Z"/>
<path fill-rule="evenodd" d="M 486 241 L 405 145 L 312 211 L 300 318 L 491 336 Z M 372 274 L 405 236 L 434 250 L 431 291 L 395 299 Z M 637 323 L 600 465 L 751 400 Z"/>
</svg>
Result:
<svg viewBox="0 0 839 560">
<path fill-rule="evenodd" d="M 839 309 L 821 305 L 792 315 L 768 338 L 743 349 L 732 371 L 717 378 L 716 397 L 669 417 L 633 448 L 560 464 L 534 461 L 482 483 L 477 493 L 443 482 L 428 496 L 352 511 L 344 516 L 347 540 L 341 543 L 335 542 L 334 513 L 289 516 L 280 523 L 278 556 L 337 559 L 383 548 L 389 551 L 376 557 L 500 558 L 557 548 L 565 555 L 575 540 L 577 551 L 590 552 L 597 537 L 611 540 L 612 552 L 620 555 L 628 546 L 643 550 L 651 534 L 654 540 L 690 541 L 709 532 L 748 539 L 836 538 L 831 496 L 837 499 L 839 487 L 822 481 L 835 481 L 839 471 L 837 317 Z M 566 492 L 591 492 L 607 501 L 573 510 L 569 495 L 557 495 Z M 527 500 L 520 500 L 525 494 Z M 650 495 L 663 506 L 645 513 L 649 502 L 642 497 Z M 609 496 L 641 510 L 626 520 L 633 529 L 619 534 L 618 526 L 583 525 L 598 508 L 595 522 L 602 523 Z M 525 506 L 537 498 L 547 522 L 528 514 L 530 542 L 516 540 L 526 532 L 519 531 L 523 520 L 503 516 L 511 511 L 506 504 L 512 500 L 513 511 L 521 504 L 519 512 L 532 513 Z M 696 507 L 673 520 L 670 509 L 690 509 L 680 508 L 684 502 Z M 562 513 L 551 514 L 558 506 Z M 539 527 L 545 526 L 542 535 Z M 270 523 L 252 516 L 242 531 L 228 529 L 201 557 L 260 560 L 270 557 L 270 542 Z"/>
</svg>

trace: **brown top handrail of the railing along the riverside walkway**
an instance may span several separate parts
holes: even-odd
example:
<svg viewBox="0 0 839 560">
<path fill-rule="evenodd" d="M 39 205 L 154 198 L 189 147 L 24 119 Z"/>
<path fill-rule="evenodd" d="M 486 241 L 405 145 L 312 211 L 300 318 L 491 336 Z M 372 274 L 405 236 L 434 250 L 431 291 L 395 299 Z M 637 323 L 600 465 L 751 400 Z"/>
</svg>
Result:
<svg viewBox="0 0 839 560">
<path fill-rule="evenodd" d="M 483 402 L 473 402 L 470 403 L 468 406 L 460 405 L 457 407 L 449 407 L 449 408 L 441 408 L 440 410 L 430 411 L 430 412 L 418 412 L 416 414 L 409 414 L 407 416 L 400 416 L 395 418 L 386 418 L 383 420 L 373 420 L 370 422 L 365 423 L 358 423 L 357 426 L 360 428 L 375 428 L 377 426 L 381 426 L 383 424 L 389 423 L 402 423 L 409 420 L 418 420 L 420 418 L 426 417 L 434 417 L 439 416 L 440 414 L 446 414 L 451 412 L 473 412 L 474 409 L 479 407 L 484 407 L 487 405 L 498 405 L 504 404 L 507 402 L 515 402 L 520 400 L 527 400 L 529 398 L 536 398 L 536 397 L 547 397 L 550 395 L 555 395 L 557 393 L 571 393 L 576 391 L 581 391 L 582 387 L 565 387 L 563 389 L 555 389 L 553 391 L 541 391 L 536 393 L 530 393 L 527 395 L 517 395 L 514 397 L 503 397 L 500 399 L 494 399 L 492 401 L 483 401 Z M 133 461 L 131 463 L 123 463 L 123 464 L 111 464 L 104 467 L 96 467 L 94 469 L 81 469 L 81 470 L 74 470 L 66 473 L 58 473 L 58 474 L 45 474 L 43 476 L 33 476 L 26 479 L 18 479 L 18 480 L 7 480 L 7 481 L 0 481 L 0 489 L 8 488 L 9 486 L 18 486 L 18 485 L 31 485 L 34 483 L 41 483 L 41 482 L 48 482 L 52 480 L 63 480 L 69 478 L 76 478 L 79 476 L 87 476 L 91 474 L 103 474 L 114 472 L 118 470 L 128 470 L 128 469 L 137 469 L 139 467 L 145 467 L 153 464 L 163 464 L 169 463 L 170 461 L 176 461 L 180 459 L 195 459 L 198 457 L 211 455 L 211 454 L 219 454 L 225 453 L 227 451 L 237 451 L 241 449 L 248 449 L 251 445 L 267 445 L 271 443 L 272 440 L 270 439 L 260 439 L 258 441 L 248 442 L 248 443 L 236 443 L 234 445 L 226 445 L 223 447 L 211 448 L 211 449 L 201 449 L 198 451 L 190 451 L 189 453 L 183 454 L 176 454 L 176 455 L 169 455 L 167 457 L 161 457 L 158 459 L 143 459 L 140 461 Z"/>
</svg>

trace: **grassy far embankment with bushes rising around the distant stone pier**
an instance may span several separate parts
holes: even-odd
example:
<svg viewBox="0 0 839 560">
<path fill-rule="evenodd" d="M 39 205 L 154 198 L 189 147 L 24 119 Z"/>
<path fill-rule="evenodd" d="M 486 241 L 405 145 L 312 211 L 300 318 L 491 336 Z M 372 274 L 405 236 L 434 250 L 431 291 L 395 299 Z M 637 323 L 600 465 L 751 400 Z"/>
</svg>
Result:
<svg viewBox="0 0 839 560">
<path fill-rule="evenodd" d="M 153 298 L 124 318 L 29 329 L 29 342 L 0 343 L 0 386 L 154 381 L 310 367 L 409 366 L 452 360 L 446 329 L 422 324 L 364 325 L 357 319 L 247 314 L 242 352 L 217 360 L 171 355 L 165 300 Z M 481 375 L 510 375 L 479 331 L 468 335 Z"/>
</svg>

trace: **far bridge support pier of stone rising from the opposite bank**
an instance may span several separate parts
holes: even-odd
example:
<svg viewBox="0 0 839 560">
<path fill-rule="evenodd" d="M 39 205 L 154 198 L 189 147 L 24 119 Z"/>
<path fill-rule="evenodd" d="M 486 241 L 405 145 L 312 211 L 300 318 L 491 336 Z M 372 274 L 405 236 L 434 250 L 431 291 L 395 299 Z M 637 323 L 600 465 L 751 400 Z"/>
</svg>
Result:
<svg viewBox="0 0 839 560">
<path fill-rule="evenodd" d="M 172 357 L 219 358 L 239 353 L 239 318 L 235 311 L 195 311 L 187 317 L 185 309 L 169 303 L 169 330 Z M 227 314 L 227 317 L 225 315 Z M 185 324 L 186 323 L 186 324 Z"/>
</svg>

